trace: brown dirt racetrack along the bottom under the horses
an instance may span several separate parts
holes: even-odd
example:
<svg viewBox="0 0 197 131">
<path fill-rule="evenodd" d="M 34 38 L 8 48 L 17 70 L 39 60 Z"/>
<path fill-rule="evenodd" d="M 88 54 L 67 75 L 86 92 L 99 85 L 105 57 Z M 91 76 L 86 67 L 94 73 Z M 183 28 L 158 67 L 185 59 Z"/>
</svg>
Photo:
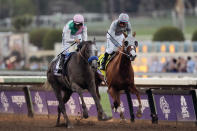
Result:
<svg viewBox="0 0 197 131">
<path fill-rule="evenodd" d="M 63 119 L 61 119 L 63 122 Z M 197 131 L 197 127 L 189 126 L 188 124 L 151 124 L 150 122 L 135 122 L 129 121 L 120 122 L 119 120 L 110 120 L 100 122 L 94 118 L 86 120 L 76 120 L 71 118 L 74 128 L 67 129 L 63 125 L 55 127 L 56 117 L 34 117 L 27 118 L 26 116 L 7 116 L 0 115 L 0 130 L 1 131 Z"/>
</svg>

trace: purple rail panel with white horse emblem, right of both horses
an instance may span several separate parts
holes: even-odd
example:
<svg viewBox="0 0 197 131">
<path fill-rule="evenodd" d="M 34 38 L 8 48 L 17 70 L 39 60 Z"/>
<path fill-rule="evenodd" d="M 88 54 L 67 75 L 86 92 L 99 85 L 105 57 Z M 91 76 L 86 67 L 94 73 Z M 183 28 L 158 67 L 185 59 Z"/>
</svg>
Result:
<svg viewBox="0 0 197 131">
<path fill-rule="evenodd" d="M 172 95 L 154 95 L 154 99 L 159 120 L 177 120 Z"/>
</svg>

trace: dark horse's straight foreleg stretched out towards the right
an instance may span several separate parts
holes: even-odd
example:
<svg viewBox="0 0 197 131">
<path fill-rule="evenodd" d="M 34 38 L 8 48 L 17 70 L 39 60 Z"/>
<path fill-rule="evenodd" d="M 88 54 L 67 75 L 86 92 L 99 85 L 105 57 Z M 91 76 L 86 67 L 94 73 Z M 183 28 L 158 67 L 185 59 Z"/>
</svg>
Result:
<svg viewBox="0 0 197 131">
<path fill-rule="evenodd" d="M 89 92 L 91 93 L 96 107 L 97 107 L 97 111 L 98 111 L 98 120 L 109 120 L 111 118 L 107 117 L 107 115 L 105 114 L 105 112 L 103 111 L 103 108 L 101 106 L 100 100 L 96 94 L 96 85 L 94 82 L 92 82 L 92 84 L 90 84 L 89 88 L 88 88 Z"/>
</svg>

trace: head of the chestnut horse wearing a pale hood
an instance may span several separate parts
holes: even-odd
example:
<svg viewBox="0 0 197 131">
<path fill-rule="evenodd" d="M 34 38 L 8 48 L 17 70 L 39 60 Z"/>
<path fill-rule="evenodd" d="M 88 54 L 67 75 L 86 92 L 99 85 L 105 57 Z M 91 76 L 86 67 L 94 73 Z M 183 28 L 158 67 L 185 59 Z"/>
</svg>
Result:
<svg viewBox="0 0 197 131">
<path fill-rule="evenodd" d="M 128 58 L 131 61 L 134 61 L 137 54 L 136 54 L 136 48 L 138 46 L 138 42 L 134 37 L 128 36 L 124 41 L 123 41 L 123 52 L 128 56 Z"/>
</svg>

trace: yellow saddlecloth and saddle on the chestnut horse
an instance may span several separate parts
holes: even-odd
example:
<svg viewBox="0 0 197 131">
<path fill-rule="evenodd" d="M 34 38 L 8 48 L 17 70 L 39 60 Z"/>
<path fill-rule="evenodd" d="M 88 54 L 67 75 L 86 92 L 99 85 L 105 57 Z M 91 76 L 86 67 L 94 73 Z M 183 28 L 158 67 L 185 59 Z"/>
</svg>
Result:
<svg viewBox="0 0 197 131">
<path fill-rule="evenodd" d="M 107 65 L 110 63 L 110 61 L 116 56 L 116 53 L 113 53 L 112 55 L 109 55 L 105 64 L 105 69 L 107 68 Z M 98 70 L 100 69 L 101 63 L 103 61 L 104 54 L 101 54 L 98 58 Z M 104 77 L 106 76 L 105 70 L 99 70 L 99 73 L 102 74 Z"/>
</svg>

